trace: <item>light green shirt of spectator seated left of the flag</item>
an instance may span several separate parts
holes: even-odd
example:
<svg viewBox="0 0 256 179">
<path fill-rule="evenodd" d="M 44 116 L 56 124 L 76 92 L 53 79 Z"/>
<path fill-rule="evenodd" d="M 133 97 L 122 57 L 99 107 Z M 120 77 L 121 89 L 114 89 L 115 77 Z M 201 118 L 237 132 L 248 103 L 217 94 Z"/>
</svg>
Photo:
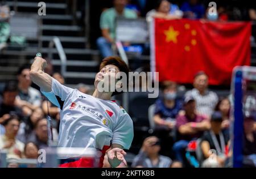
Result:
<svg viewBox="0 0 256 179">
<path fill-rule="evenodd" d="M 109 29 L 110 37 L 112 37 L 112 39 L 114 39 L 115 37 L 115 18 L 117 17 L 135 19 L 137 18 L 137 14 L 133 10 L 125 8 L 125 10 L 123 10 L 123 14 L 119 15 L 113 7 L 102 12 L 100 19 L 100 28 Z"/>
</svg>

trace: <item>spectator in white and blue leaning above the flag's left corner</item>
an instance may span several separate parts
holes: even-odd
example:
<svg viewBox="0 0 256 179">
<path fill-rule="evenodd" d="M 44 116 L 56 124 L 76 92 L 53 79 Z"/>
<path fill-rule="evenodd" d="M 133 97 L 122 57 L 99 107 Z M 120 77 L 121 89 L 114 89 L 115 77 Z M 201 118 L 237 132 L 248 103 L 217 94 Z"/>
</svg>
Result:
<svg viewBox="0 0 256 179">
<path fill-rule="evenodd" d="M 156 3 L 155 9 L 147 12 L 146 18 L 147 20 L 151 20 L 150 18 L 162 18 L 162 19 L 181 19 L 182 12 L 176 7 L 172 9 L 172 4 L 167 0 L 160 0 Z"/>
</svg>

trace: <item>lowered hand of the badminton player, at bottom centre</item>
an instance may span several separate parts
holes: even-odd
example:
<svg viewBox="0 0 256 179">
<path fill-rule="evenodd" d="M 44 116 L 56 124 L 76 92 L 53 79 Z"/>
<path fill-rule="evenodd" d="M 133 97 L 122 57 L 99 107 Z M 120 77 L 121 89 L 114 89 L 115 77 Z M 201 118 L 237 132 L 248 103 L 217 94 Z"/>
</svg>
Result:
<svg viewBox="0 0 256 179">
<path fill-rule="evenodd" d="M 126 152 L 121 148 L 113 148 L 108 151 L 108 161 L 112 167 L 118 167 L 121 163 L 127 165 L 125 160 Z"/>
</svg>

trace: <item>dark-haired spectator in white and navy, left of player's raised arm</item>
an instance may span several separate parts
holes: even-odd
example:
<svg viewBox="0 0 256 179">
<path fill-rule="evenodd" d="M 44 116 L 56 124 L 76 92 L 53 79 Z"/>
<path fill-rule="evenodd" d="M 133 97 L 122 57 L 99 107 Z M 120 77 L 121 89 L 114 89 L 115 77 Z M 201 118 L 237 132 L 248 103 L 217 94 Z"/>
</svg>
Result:
<svg viewBox="0 0 256 179">
<path fill-rule="evenodd" d="M 32 110 L 41 105 L 41 93 L 31 87 L 29 67 L 22 66 L 18 70 L 18 88 L 16 102 L 24 114 L 30 115 Z"/>
</svg>

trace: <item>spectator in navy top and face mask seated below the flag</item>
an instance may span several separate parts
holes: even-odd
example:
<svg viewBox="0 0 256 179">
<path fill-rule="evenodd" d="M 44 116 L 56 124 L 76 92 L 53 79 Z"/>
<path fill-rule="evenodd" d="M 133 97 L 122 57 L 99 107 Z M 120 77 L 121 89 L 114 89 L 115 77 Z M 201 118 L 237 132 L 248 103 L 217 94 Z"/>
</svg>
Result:
<svg viewBox="0 0 256 179">
<path fill-rule="evenodd" d="M 166 81 L 162 84 L 163 95 L 155 102 L 154 122 L 155 135 L 164 143 L 168 143 L 170 148 L 166 149 L 166 155 L 170 155 L 172 142 L 174 140 L 174 128 L 176 116 L 183 108 L 183 100 L 177 97 L 177 84 Z M 165 152 L 164 152 L 165 153 Z"/>
</svg>

